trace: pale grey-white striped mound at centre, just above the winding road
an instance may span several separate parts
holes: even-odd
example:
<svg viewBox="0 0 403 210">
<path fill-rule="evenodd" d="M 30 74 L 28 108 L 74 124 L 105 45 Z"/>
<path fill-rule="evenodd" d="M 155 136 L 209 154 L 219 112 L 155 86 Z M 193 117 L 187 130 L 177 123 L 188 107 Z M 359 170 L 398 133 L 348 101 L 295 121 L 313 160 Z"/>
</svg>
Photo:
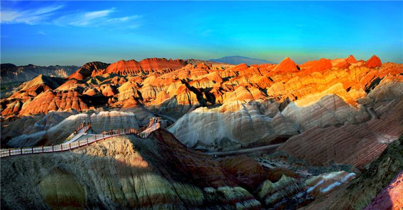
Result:
<svg viewBox="0 0 403 210">
<path fill-rule="evenodd" d="M 279 135 L 297 133 L 295 126 L 281 114 L 272 119 L 261 114 L 256 102 L 240 101 L 229 101 L 213 109 L 197 108 L 169 130 L 188 147 L 210 150 L 231 150 L 259 141 L 267 143 Z"/>
</svg>

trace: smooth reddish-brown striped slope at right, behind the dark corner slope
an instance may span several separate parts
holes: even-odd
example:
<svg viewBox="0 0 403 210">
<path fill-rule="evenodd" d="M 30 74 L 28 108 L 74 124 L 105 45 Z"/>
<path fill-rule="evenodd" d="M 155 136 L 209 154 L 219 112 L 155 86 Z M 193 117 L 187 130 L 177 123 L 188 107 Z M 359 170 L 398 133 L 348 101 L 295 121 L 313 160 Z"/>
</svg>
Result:
<svg viewBox="0 0 403 210">
<path fill-rule="evenodd" d="M 403 98 L 399 78 L 385 78 L 368 95 L 376 98 L 373 104 L 367 104 L 373 106 L 373 109 L 366 108 L 372 120 L 360 125 L 352 121 L 338 127 L 312 126 L 288 139 L 278 150 L 306 159 L 313 165 L 334 161 L 363 168 L 377 158 L 387 144 L 402 134 Z M 391 98 L 394 100 L 390 101 Z M 320 122 L 320 119 L 316 121 Z M 327 122 L 331 122 L 329 119 Z"/>
</svg>

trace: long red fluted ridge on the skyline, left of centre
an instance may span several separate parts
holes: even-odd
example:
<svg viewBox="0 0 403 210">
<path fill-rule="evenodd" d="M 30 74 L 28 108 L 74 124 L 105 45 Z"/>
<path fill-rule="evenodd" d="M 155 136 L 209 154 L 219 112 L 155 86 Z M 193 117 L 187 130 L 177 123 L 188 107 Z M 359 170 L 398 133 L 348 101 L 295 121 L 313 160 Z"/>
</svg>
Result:
<svg viewBox="0 0 403 210">
<path fill-rule="evenodd" d="M 186 65 L 186 62 L 181 59 L 169 59 L 166 58 L 146 58 L 140 62 L 136 60 L 119 60 L 109 65 L 105 73 L 108 74 L 138 74 L 143 72 L 153 72 L 161 69 L 178 69 Z"/>
</svg>

